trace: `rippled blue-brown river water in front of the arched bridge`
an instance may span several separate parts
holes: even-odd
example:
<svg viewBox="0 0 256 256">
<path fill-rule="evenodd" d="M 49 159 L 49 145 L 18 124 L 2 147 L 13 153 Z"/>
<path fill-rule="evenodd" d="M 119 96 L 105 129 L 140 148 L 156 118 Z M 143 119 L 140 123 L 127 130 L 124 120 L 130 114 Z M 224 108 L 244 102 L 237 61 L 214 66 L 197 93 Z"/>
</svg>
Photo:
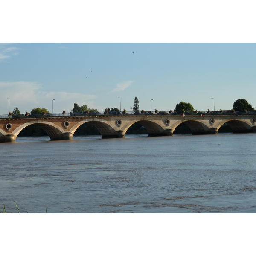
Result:
<svg viewBox="0 0 256 256">
<path fill-rule="evenodd" d="M 256 212 L 256 134 L 147 136 L 0 143 L 0 211 Z"/>
</svg>

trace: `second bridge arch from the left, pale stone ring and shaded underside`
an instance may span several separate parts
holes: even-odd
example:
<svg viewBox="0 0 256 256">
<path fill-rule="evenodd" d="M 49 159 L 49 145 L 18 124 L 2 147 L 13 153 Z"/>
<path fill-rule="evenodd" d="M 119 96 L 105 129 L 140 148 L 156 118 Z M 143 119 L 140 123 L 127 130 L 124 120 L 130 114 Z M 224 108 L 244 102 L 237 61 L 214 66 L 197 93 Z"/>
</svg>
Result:
<svg viewBox="0 0 256 256">
<path fill-rule="evenodd" d="M 69 132 L 72 134 L 72 136 L 77 130 L 77 128 L 79 128 L 84 123 L 90 123 L 93 126 L 95 126 L 99 130 L 100 134 L 102 135 L 102 139 L 123 137 L 122 133 L 120 133 L 118 130 L 116 131 L 111 125 L 108 124 L 106 120 L 100 119 L 100 118 L 97 118 L 97 119 L 90 118 L 90 119 L 85 119 L 78 122 L 76 125 L 70 128 Z"/>
</svg>

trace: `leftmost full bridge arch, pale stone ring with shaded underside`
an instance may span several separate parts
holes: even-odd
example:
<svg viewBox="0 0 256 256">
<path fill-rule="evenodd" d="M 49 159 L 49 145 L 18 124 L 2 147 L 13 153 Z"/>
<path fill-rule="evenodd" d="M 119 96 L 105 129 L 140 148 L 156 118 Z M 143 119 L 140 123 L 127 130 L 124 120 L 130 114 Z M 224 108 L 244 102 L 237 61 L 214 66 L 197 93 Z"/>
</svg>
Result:
<svg viewBox="0 0 256 256">
<path fill-rule="evenodd" d="M 66 139 L 65 137 L 67 133 L 64 131 L 64 129 L 62 129 L 58 125 L 55 125 L 52 122 L 44 121 L 44 120 L 33 120 L 18 126 L 14 131 L 12 131 L 12 134 L 14 135 L 14 139 L 16 139 L 20 131 L 22 131 L 24 128 L 26 128 L 29 125 L 38 125 L 39 127 L 41 127 L 44 131 L 47 132 L 51 140 Z"/>
</svg>

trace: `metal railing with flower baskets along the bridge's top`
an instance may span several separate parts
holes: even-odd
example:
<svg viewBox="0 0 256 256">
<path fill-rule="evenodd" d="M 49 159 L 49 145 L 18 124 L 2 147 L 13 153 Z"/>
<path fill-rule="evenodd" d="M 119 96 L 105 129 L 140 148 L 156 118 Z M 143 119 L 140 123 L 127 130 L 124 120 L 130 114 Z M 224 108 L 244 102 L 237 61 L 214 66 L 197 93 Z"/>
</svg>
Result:
<svg viewBox="0 0 256 256">
<path fill-rule="evenodd" d="M 102 112 L 90 112 L 90 113 L 46 113 L 45 115 L 43 114 L 20 114 L 20 115 L 0 115 L 0 118 L 2 119 L 6 119 L 6 118 L 48 118 L 48 117 L 64 117 L 64 116 L 125 116 L 125 115 L 165 115 L 165 116 L 181 116 L 182 114 L 184 115 L 193 115 L 193 116 L 200 116 L 200 115 L 255 115 L 256 111 L 247 111 L 245 112 L 234 112 L 232 113 L 231 111 L 211 111 L 211 112 L 207 112 L 207 111 L 198 111 L 198 112 L 185 112 L 185 113 L 178 113 L 173 111 L 172 113 L 169 113 L 167 111 L 159 111 L 158 113 L 155 112 L 151 112 L 151 111 L 144 111 L 143 113 L 140 112 L 134 112 L 134 111 L 127 111 L 126 113 L 120 113 L 120 112 L 114 112 L 114 111 L 108 111 L 108 113 L 106 113 L 105 111 Z"/>
</svg>

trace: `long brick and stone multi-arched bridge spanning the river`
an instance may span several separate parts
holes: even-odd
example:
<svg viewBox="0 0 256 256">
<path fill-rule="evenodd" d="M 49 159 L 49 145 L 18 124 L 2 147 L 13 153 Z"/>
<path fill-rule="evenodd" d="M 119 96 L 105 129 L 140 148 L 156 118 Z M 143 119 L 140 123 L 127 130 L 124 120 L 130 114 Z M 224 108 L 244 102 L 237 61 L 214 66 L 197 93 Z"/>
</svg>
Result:
<svg viewBox="0 0 256 256">
<path fill-rule="evenodd" d="M 217 134 L 228 123 L 234 133 L 256 132 L 256 112 L 233 114 L 122 114 L 84 116 L 23 116 L 0 118 L 0 142 L 14 142 L 20 131 L 28 125 L 43 128 L 51 140 L 72 140 L 76 129 L 90 122 L 99 129 L 102 138 L 122 138 L 128 128 L 140 122 L 148 136 L 171 136 L 181 123 L 189 126 L 192 134 Z"/>
</svg>

